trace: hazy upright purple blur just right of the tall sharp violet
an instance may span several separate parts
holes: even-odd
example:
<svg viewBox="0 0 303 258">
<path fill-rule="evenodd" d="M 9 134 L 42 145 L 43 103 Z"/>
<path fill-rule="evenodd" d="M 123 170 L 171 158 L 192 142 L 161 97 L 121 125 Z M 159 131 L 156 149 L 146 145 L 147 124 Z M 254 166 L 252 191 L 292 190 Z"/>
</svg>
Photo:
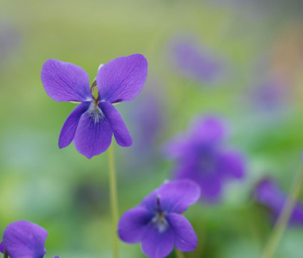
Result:
<svg viewBox="0 0 303 258">
<path fill-rule="evenodd" d="M 165 129 L 165 91 L 157 80 L 146 81 L 140 98 L 129 103 L 128 108 L 121 110 L 123 118 L 130 121 L 133 132 L 133 145 L 123 152 L 127 159 L 123 166 L 130 167 L 131 172 L 138 171 L 144 165 L 158 159 L 158 140 Z M 138 108 L 140 107 L 140 108 Z"/>
</svg>

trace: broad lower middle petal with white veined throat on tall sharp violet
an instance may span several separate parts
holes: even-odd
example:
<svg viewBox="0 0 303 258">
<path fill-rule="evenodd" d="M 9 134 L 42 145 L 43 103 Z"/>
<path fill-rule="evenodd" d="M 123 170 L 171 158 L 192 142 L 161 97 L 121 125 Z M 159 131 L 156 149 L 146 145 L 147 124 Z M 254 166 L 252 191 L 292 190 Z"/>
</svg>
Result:
<svg viewBox="0 0 303 258">
<path fill-rule="evenodd" d="M 73 143 L 79 153 L 92 158 L 106 151 L 111 145 L 113 131 L 104 114 L 91 113 L 91 108 L 84 113 L 78 123 Z"/>
</svg>

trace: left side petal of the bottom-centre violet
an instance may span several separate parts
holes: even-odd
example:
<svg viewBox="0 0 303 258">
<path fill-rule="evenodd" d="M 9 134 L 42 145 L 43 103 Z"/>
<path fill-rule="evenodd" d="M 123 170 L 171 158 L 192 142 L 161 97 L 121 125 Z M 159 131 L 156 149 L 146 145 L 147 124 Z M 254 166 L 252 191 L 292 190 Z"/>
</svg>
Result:
<svg viewBox="0 0 303 258">
<path fill-rule="evenodd" d="M 153 213 L 143 207 L 135 207 L 125 212 L 118 224 L 118 234 L 124 242 L 140 242 L 144 229 L 153 218 Z"/>
</svg>

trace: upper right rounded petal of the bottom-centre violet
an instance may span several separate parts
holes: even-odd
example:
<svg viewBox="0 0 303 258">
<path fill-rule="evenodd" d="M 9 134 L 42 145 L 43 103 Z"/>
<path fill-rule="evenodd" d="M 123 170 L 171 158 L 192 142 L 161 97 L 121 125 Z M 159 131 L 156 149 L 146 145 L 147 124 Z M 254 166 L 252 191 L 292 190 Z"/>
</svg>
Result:
<svg viewBox="0 0 303 258">
<path fill-rule="evenodd" d="M 168 212 L 183 213 L 200 198 L 200 187 L 192 180 L 176 180 L 158 188 L 160 206 Z"/>
</svg>

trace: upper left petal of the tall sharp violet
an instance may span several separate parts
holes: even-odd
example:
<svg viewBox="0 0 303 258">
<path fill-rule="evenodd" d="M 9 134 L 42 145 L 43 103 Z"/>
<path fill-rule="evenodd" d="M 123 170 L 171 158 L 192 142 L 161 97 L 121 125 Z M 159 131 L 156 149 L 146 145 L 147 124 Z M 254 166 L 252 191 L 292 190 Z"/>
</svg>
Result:
<svg viewBox="0 0 303 258">
<path fill-rule="evenodd" d="M 43 87 L 56 101 L 92 100 L 89 78 L 86 71 L 73 63 L 48 59 L 41 71 Z"/>
</svg>

